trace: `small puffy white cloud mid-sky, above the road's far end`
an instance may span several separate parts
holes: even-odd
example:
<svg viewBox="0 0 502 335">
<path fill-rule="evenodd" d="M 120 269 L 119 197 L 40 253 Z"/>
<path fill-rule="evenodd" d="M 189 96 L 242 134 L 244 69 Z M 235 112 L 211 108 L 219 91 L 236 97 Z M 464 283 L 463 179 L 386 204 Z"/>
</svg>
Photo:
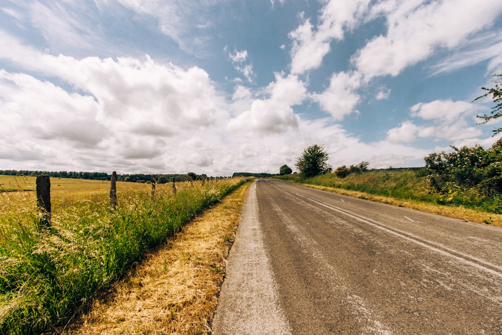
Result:
<svg viewBox="0 0 502 335">
<path fill-rule="evenodd" d="M 305 84 L 296 75 L 283 77 L 276 73 L 276 80 L 267 86 L 266 93 L 268 98 L 254 100 L 250 109 L 231 119 L 229 129 L 271 134 L 297 128 L 299 118 L 292 106 L 306 97 Z"/>
</svg>

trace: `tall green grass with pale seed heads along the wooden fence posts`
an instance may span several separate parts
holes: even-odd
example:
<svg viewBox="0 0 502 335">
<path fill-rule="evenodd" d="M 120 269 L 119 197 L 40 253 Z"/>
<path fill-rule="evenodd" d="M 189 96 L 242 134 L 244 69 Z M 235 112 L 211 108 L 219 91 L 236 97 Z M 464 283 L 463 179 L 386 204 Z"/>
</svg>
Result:
<svg viewBox="0 0 502 335">
<path fill-rule="evenodd" d="M 51 231 L 39 227 L 34 199 L 0 208 L 0 333 L 66 324 L 144 251 L 243 182 L 178 183 L 176 196 L 158 185 L 155 200 L 149 190 L 118 190 L 114 211 L 105 194 L 56 199 Z"/>
</svg>

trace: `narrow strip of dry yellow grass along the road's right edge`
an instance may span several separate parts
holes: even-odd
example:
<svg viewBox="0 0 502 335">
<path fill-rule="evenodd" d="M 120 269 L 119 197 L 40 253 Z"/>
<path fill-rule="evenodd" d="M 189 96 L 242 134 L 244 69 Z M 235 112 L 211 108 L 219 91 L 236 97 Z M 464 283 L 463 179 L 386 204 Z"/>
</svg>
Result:
<svg viewBox="0 0 502 335">
<path fill-rule="evenodd" d="M 303 186 L 316 188 L 324 191 L 334 192 L 338 194 L 344 194 L 353 196 L 355 198 L 367 199 L 376 202 L 388 203 L 395 206 L 402 206 L 406 208 L 417 209 L 429 213 L 440 214 L 444 216 L 454 217 L 463 219 L 466 221 L 480 222 L 486 224 L 487 222 L 493 226 L 502 227 L 502 215 L 494 213 L 480 212 L 474 209 L 468 209 L 464 207 L 452 207 L 452 206 L 442 206 L 437 204 L 431 204 L 419 201 L 408 201 L 396 198 L 391 198 L 381 195 L 373 195 L 358 191 L 345 190 L 342 188 L 317 186 L 311 184 L 301 184 Z"/>
</svg>

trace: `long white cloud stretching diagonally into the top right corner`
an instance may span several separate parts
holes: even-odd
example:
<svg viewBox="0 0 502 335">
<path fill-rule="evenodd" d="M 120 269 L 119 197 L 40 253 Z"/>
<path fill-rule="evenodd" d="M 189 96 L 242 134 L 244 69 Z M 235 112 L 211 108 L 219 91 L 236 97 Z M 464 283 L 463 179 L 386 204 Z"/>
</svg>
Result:
<svg viewBox="0 0 502 335">
<path fill-rule="evenodd" d="M 366 79 L 398 75 L 428 58 L 437 48 L 452 49 L 491 25 L 502 3 L 491 0 L 444 0 L 381 3 L 373 14 L 385 14 L 388 32 L 369 41 L 352 62 Z"/>
</svg>

